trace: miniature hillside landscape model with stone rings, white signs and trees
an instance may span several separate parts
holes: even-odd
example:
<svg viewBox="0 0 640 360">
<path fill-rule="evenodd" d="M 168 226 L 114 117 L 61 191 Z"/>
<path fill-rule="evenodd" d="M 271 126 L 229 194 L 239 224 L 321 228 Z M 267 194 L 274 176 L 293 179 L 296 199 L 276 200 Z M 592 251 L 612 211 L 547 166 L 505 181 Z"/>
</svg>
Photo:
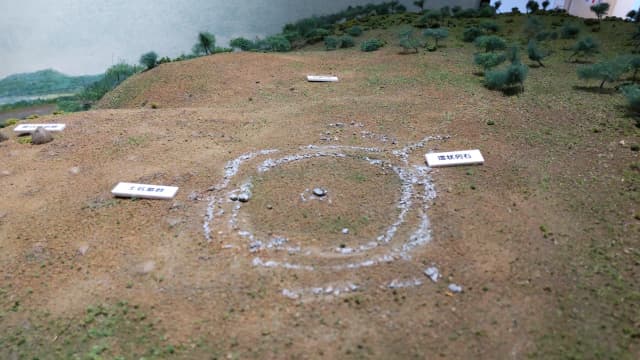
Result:
<svg viewBox="0 0 640 360">
<path fill-rule="evenodd" d="M 0 108 L 0 358 L 640 358 L 640 14 L 416 5 Z"/>
</svg>

